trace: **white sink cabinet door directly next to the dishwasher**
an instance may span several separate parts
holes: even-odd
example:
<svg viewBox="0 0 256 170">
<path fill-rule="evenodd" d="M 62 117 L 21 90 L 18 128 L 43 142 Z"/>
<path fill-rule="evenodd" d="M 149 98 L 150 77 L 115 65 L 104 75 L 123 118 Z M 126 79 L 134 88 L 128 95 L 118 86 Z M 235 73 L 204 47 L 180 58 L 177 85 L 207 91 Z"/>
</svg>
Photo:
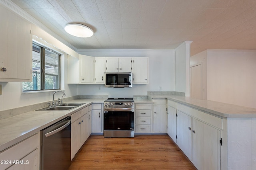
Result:
<svg viewBox="0 0 256 170">
<path fill-rule="evenodd" d="M 80 149 L 80 124 L 80 118 L 71 123 L 71 159 L 74 158 L 76 152 L 78 152 L 78 150 Z"/>
</svg>

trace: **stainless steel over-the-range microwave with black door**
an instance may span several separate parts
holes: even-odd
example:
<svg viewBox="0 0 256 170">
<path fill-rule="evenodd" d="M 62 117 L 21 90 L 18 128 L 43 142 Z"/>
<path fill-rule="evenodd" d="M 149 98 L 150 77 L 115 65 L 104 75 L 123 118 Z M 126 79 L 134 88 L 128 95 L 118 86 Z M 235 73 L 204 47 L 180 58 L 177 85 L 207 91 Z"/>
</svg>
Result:
<svg viewBox="0 0 256 170">
<path fill-rule="evenodd" d="M 105 73 L 105 87 L 132 87 L 131 72 Z"/>
</svg>

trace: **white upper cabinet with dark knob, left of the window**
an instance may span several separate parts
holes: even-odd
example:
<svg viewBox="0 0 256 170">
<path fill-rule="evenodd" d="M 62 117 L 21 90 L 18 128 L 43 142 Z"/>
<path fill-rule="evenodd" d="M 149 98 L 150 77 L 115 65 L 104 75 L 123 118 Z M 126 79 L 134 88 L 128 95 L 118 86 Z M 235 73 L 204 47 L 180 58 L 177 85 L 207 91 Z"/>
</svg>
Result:
<svg viewBox="0 0 256 170">
<path fill-rule="evenodd" d="M 1 5 L 0 16 L 0 81 L 31 81 L 31 23 Z"/>
</svg>

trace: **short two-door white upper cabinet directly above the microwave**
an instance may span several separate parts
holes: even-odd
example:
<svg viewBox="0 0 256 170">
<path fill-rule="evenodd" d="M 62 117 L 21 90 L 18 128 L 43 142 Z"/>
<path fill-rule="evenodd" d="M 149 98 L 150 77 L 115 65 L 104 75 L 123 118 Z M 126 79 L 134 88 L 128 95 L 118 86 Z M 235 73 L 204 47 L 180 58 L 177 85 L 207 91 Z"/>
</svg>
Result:
<svg viewBox="0 0 256 170">
<path fill-rule="evenodd" d="M 105 72 L 131 72 L 132 57 L 106 57 Z"/>
</svg>

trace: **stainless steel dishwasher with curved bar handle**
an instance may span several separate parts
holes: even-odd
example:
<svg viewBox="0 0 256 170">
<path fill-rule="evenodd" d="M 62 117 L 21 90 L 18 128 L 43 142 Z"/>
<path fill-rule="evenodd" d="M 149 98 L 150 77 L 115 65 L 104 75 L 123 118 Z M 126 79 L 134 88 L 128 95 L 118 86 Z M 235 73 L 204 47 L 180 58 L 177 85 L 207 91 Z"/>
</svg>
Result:
<svg viewBox="0 0 256 170">
<path fill-rule="evenodd" d="M 40 131 L 40 170 L 67 170 L 71 164 L 71 116 Z"/>
</svg>

